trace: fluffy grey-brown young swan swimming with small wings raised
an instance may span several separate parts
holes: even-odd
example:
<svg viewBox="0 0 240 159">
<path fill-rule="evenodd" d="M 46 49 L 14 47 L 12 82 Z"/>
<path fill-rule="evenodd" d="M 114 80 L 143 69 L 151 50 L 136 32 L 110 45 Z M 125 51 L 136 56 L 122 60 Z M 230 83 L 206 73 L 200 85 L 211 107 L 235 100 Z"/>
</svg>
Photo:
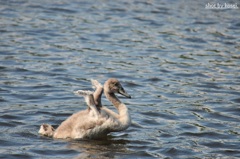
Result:
<svg viewBox="0 0 240 159">
<path fill-rule="evenodd" d="M 101 85 L 98 86 L 97 90 L 101 89 Z M 80 95 L 85 93 L 85 101 L 89 108 L 70 116 L 55 131 L 51 125 L 43 124 L 39 133 L 46 136 L 52 135 L 54 138 L 95 139 L 106 137 L 110 132 L 127 129 L 131 124 L 131 117 L 128 113 L 128 108 L 115 96 L 115 93 L 122 94 L 128 98 L 131 98 L 131 96 L 126 93 L 120 82 L 115 78 L 108 79 L 103 89 L 105 96 L 117 108 L 118 113 L 103 107 L 99 98 L 97 99 L 98 105 L 95 104 L 96 99 L 93 96 L 101 97 L 101 91 L 94 94 L 90 93 L 90 91 L 79 90 L 75 93 Z"/>
</svg>

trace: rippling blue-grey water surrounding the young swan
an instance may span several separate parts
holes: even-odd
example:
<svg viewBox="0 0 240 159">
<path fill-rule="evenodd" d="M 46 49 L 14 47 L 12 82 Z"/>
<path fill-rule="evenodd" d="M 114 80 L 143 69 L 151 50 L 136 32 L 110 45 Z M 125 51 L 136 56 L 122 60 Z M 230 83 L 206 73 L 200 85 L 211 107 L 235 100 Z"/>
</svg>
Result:
<svg viewBox="0 0 240 159">
<path fill-rule="evenodd" d="M 240 9 L 208 2 L 1 0 L 0 158 L 240 157 Z M 128 130 L 38 135 L 86 108 L 74 90 L 110 77 L 133 96 Z"/>
</svg>

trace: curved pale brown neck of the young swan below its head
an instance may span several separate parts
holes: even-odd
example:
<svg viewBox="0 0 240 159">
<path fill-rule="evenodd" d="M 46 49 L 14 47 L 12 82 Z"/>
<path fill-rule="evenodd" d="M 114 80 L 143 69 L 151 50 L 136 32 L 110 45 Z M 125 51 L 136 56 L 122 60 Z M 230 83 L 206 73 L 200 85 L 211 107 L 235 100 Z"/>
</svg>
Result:
<svg viewBox="0 0 240 159">
<path fill-rule="evenodd" d="M 131 124 L 131 118 L 128 113 L 128 108 L 124 103 L 122 103 L 114 93 L 104 92 L 107 99 L 117 108 L 118 110 L 118 121 L 119 125 L 114 129 L 115 131 L 121 131 L 127 129 Z"/>
</svg>

